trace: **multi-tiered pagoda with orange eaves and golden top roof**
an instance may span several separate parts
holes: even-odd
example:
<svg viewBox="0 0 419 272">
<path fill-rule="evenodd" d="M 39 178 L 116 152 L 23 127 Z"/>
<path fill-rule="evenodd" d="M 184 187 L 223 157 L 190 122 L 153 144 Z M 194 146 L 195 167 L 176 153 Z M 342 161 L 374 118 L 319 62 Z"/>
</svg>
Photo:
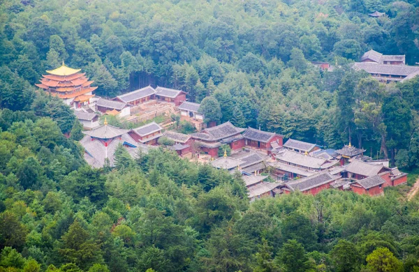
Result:
<svg viewBox="0 0 419 272">
<path fill-rule="evenodd" d="M 89 103 L 89 99 L 94 96 L 92 92 L 98 87 L 92 87 L 86 73 L 80 73 L 81 69 L 69 68 L 63 65 L 54 70 L 47 70 L 49 75 L 43 75 L 41 84 L 36 86 L 44 89 L 54 96 L 58 96 L 71 107 L 81 107 Z"/>
</svg>

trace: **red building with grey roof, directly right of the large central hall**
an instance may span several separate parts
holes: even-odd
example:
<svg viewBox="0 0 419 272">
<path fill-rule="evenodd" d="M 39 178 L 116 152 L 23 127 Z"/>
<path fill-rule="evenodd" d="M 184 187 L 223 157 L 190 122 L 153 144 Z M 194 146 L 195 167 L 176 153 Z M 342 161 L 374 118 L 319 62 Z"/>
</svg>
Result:
<svg viewBox="0 0 419 272">
<path fill-rule="evenodd" d="M 277 133 L 268 133 L 263 130 L 257 130 L 255 128 L 247 128 L 243 133 L 244 144 L 251 146 L 256 149 L 263 149 L 268 154 L 272 151 L 272 142 L 276 142 L 279 146 L 282 146 L 284 136 Z"/>
</svg>

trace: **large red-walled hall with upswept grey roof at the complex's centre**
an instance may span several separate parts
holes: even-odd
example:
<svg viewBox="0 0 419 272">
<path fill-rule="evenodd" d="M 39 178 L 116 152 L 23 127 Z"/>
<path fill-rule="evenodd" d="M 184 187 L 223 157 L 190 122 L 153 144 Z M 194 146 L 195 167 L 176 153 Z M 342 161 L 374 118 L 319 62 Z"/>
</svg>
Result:
<svg viewBox="0 0 419 272">
<path fill-rule="evenodd" d="M 205 128 L 199 133 L 191 134 L 201 151 L 212 157 L 218 156 L 221 144 L 230 144 L 231 149 L 237 150 L 244 147 L 242 132 L 244 128 L 237 128 L 232 123 L 226 122 L 212 128 Z"/>
</svg>

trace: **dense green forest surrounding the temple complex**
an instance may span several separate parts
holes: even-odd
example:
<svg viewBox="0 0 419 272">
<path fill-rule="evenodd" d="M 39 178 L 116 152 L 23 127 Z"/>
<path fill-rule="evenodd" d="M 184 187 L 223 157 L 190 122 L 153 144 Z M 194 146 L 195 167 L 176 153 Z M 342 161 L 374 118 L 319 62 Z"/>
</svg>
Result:
<svg viewBox="0 0 419 272">
<path fill-rule="evenodd" d="M 419 271 L 408 186 L 249 204 L 239 174 L 162 149 L 91 169 L 71 109 L 34 86 L 64 61 L 98 96 L 183 89 L 210 121 L 413 169 L 418 77 L 381 84 L 351 63 L 374 49 L 415 65 L 418 18 L 414 0 L 1 1 L 0 271 Z"/>
</svg>

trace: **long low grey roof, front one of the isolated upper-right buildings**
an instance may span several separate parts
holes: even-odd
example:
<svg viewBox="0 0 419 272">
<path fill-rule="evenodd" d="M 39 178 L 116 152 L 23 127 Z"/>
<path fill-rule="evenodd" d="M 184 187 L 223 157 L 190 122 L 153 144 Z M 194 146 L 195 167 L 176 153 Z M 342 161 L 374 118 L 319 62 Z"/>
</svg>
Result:
<svg viewBox="0 0 419 272">
<path fill-rule="evenodd" d="M 365 70 L 367 73 L 374 75 L 401 75 L 405 77 L 419 71 L 419 66 L 377 64 L 367 62 L 355 62 L 354 68 L 357 70 Z"/>
</svg>

